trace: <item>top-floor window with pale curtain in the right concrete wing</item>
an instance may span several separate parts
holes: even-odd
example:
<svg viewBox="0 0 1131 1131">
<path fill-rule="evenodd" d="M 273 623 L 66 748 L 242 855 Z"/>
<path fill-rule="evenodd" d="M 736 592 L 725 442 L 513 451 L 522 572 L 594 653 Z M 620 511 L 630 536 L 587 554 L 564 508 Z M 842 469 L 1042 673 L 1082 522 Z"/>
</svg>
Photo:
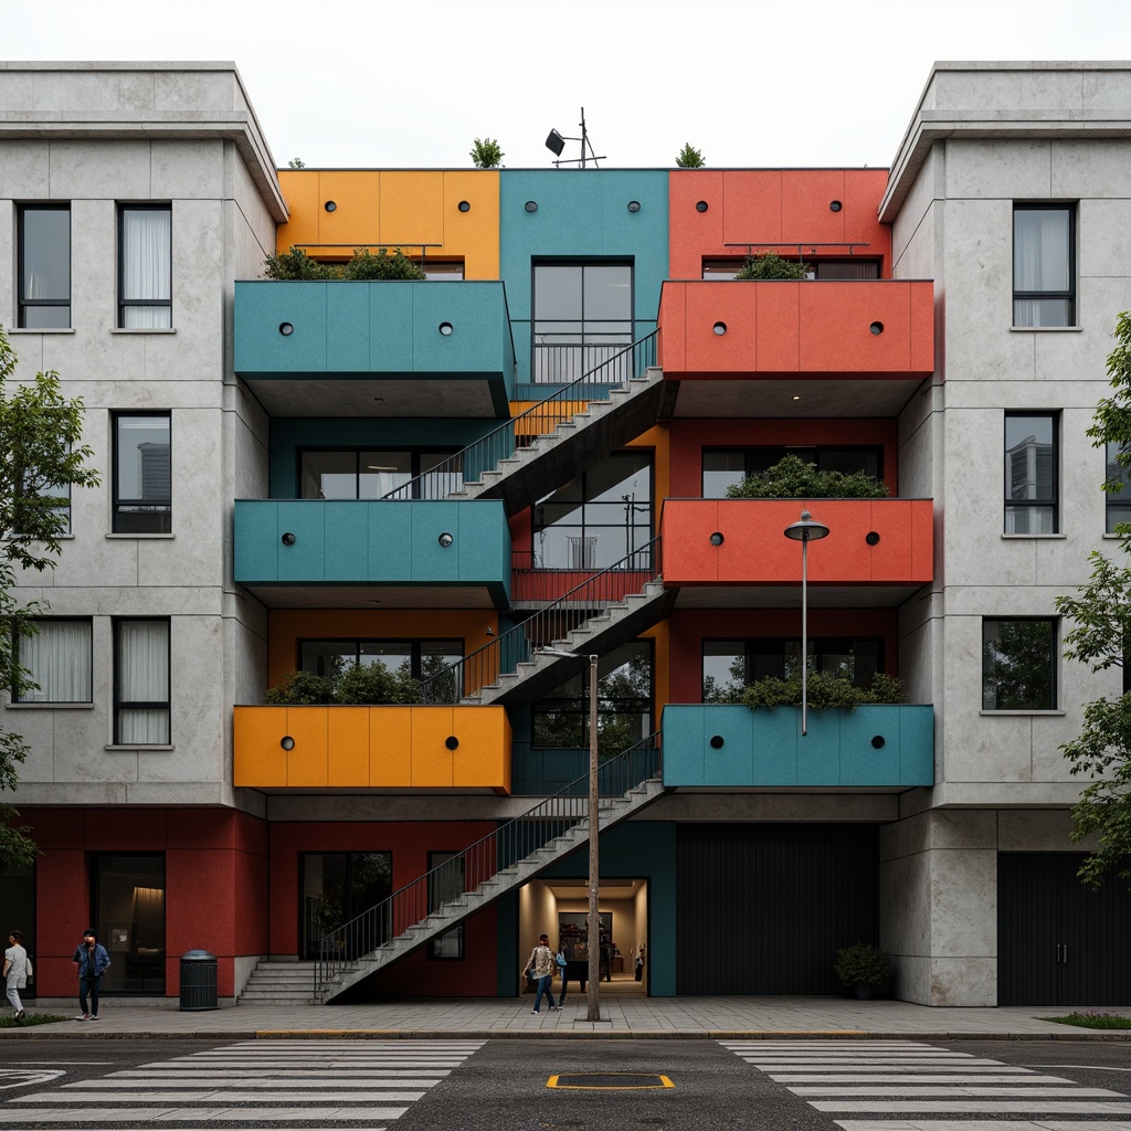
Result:
<svg viewBox="0 0 1131 1131">
<path fill-rule="evenodd" d="M 1013 206 L 1013 325 L 1076 326 L 1076 210 Z"/>
</svg>

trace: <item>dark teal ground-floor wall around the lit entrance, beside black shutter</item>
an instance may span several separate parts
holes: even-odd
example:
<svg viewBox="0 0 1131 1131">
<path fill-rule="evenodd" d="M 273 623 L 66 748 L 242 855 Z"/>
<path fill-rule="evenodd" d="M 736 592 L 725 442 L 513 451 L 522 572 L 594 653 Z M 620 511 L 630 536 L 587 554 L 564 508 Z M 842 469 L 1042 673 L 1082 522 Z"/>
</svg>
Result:
<svg viewBox="0 0 1131 1131">
<path fill-rule="evenodd" d="M 648 880 L 648 992 L 653 998 L 675 996 L 675 824 L 672 821 L 632 821 L 602 834 L 601 874 L 610 879 Z M 541 879 L 576 880 L 588 875 L 586 852 L 575 853 L 543 873 Z M 619 940 L 618 940 L 619 941 Z M 622 944 L 628 951 L 636 940 Z M 513 974 L 511 974 L 513 978 Z"/>
</svg>

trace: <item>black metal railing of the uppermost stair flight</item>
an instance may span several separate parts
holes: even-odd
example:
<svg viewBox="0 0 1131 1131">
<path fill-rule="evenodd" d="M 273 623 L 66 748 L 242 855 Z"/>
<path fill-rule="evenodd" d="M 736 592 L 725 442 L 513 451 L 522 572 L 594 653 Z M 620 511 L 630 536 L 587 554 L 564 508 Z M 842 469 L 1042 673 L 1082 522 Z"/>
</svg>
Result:
<svg viewBox="0 0 1131 1131">
<path fill-rule="evenodd" d="M 433 464 L 426 472 L 381 495 L 382 499 L 444 499 L 465 483 L 474 483 L 484 472 L 494 470 L 519 448 L 541 435 L 550 435 L 559 424 L 585 412 L 590 400 L 604 400 L 611 388 L 622 388 L 656 364 L 656 336 L 625 346 L 576 381 L 512 416 L 493 432 L 468 444 L 456 455 Z"/>
</svg>

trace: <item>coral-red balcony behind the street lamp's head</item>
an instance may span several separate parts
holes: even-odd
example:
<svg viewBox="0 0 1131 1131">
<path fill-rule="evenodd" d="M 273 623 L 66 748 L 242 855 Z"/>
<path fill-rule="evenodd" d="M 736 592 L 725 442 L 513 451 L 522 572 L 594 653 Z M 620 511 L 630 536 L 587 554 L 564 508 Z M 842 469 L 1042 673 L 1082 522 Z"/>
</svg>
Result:
<svg viewBox="0 0 1131 1131">
<path fill-rule="evenodd" d="M 682 607 L 796 604 L 801 552 L 783 532 L 806 509 L 829 528 L 809 547 L 811 604 L 892 606 L 933 580 L 930 499 L 668 499 L 664 584 Z"/>
</svg>

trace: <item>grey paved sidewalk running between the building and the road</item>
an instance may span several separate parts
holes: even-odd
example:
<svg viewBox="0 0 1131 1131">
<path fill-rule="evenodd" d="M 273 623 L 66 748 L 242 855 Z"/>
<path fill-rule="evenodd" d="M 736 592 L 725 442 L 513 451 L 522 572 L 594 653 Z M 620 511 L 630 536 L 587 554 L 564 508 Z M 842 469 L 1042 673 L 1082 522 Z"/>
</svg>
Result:
<svg viewBox="0 0 1131 1131">
<path fill-rule="evenodd" d="M 97 1021 L 0 1029 L 0 1039 L 90 1037 L 254 1038 L 301 1036 L 718 1038 L 873 1036 L 1007 1039 L 1122 1039 L 1131 1030 L 1093 1030 L 1041 1020 L 1067 1007 L 948 1009 L 903 1001 L 843 998 L 606 998 L 602 1020 L 586 1020 L 586 1001 L 571 996 L 561 1012 L 530 1013 L 530 998 L 397 1001 L 365 1005 L 239 1005 L 184 1011 L 103 999 Z M 32 1012 L 74 1017 L 74 1003 Z M 1120 1012 L 1112 1009 L 1112 1012 Z M 1126 1010 L 1122 1010 L 1126 1012 Z"/>
</svg>

